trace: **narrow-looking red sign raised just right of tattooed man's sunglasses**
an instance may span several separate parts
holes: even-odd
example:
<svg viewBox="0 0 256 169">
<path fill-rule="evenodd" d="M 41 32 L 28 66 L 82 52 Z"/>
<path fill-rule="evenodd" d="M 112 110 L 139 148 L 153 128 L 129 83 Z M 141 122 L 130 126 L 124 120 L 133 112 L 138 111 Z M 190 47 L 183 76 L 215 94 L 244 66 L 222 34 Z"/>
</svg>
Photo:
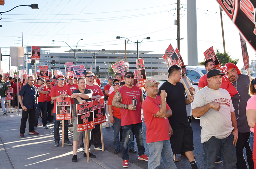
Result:
<svg viewBox="0 0 256 169">
<path fill-rule="evenodd" d="M 137 74 L 138 74 L 138 87 L 145 87 L 145 83 L 147 82 L 147 77 L 146 77 L 143 58 L 136 59 L 136 67 L 137 67 Z"/>
</svg>

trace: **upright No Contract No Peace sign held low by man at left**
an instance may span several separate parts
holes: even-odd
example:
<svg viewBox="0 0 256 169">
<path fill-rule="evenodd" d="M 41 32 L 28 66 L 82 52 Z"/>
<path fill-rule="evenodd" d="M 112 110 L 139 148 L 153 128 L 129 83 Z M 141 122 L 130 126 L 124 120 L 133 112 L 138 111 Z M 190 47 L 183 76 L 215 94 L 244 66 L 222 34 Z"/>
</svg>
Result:
<svg viewBox="0 0 256 169">
<path fill-rule="evenodd" d="M 56 97 L 56 120 L 71 120 L 70 97 Z"/>
</svg>

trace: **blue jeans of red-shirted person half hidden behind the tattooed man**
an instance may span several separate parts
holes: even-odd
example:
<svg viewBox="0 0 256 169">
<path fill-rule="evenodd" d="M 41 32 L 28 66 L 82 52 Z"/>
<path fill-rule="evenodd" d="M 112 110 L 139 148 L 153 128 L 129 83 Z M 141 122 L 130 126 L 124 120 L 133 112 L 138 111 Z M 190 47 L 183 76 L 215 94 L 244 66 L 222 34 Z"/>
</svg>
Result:
<svg viewBox="0 0 256 169">
<path fill-rule="evenodd" d="M 119 131 L 121 129 L 121 119 L 116 118 L 113 116 L 115 122 L 113 123 L 113 137 L 114 137 L 114 146 L 115 149 L 121 149 L 121 142 L 119 139 Z M 133 139 L 133 133 L 131 132 L 130 139 L 128 141 L 128 149 L 130 150 L 131 148 L 134 148 L 134 142 L 132 141 Z"/>
</svg>

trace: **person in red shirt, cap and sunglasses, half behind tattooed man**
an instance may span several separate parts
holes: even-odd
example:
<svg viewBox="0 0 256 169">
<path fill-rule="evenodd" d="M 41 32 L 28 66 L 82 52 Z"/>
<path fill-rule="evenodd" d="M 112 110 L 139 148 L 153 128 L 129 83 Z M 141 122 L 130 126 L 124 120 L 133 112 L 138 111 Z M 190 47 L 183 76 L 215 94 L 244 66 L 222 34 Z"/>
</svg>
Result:
<svg viewBox="0 0 256 169">
<path fill-rule="evenodd" d="M 115 154 L 118 154 L 121 151 L 121 142 L 119 139 L 119 133 L 122 132 L 120 129 L 122 128 L 121 126 L 121 113 L 120 113 L 120 108 L 116 108 L 112 106 L 112 101 L 115 96 L 115 93 L 117 90 L 120 88 L 120 81 L 118 79 L 115 79 L 113 81 L 113 88 L 114 91 L 109 95 L 108 98 L 108 112 L 110 116 L 110 122 L 113 123 L 113 130 L 114 130 L 114 146 L 115 146 Z M 120 133 L 120 137 L 122 138 L 122 133 Z M 134 142 L 132 141 L 133 139 L 133 133 L 131 132 L 129 141 L 128 141 L 128 149 L 129 151 L 136 153 L 137 151 L 134 149 Z"/>
</svg>

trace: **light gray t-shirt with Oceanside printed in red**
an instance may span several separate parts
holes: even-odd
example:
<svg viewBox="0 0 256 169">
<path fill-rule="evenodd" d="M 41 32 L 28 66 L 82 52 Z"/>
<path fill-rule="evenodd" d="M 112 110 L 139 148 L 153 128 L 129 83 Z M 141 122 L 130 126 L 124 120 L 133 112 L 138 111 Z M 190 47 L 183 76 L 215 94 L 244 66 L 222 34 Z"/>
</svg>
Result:
<svg viewBox="0 0 256 169">
<path fill-rule="evenodd" d="M 227 90 L 214 90 L 209 87 L 196 92 L 192 109 L 202 107 L 208 103 L 220 103 L 220 110 L 216 112 L 211 108 L 200 118 L 201 143 L 207 142 L 212 136 L 223 139 L 228 137 L 234 127 L 232 126 L 231 113 L 234 112 L 231 97 Z"/>
</svg>

